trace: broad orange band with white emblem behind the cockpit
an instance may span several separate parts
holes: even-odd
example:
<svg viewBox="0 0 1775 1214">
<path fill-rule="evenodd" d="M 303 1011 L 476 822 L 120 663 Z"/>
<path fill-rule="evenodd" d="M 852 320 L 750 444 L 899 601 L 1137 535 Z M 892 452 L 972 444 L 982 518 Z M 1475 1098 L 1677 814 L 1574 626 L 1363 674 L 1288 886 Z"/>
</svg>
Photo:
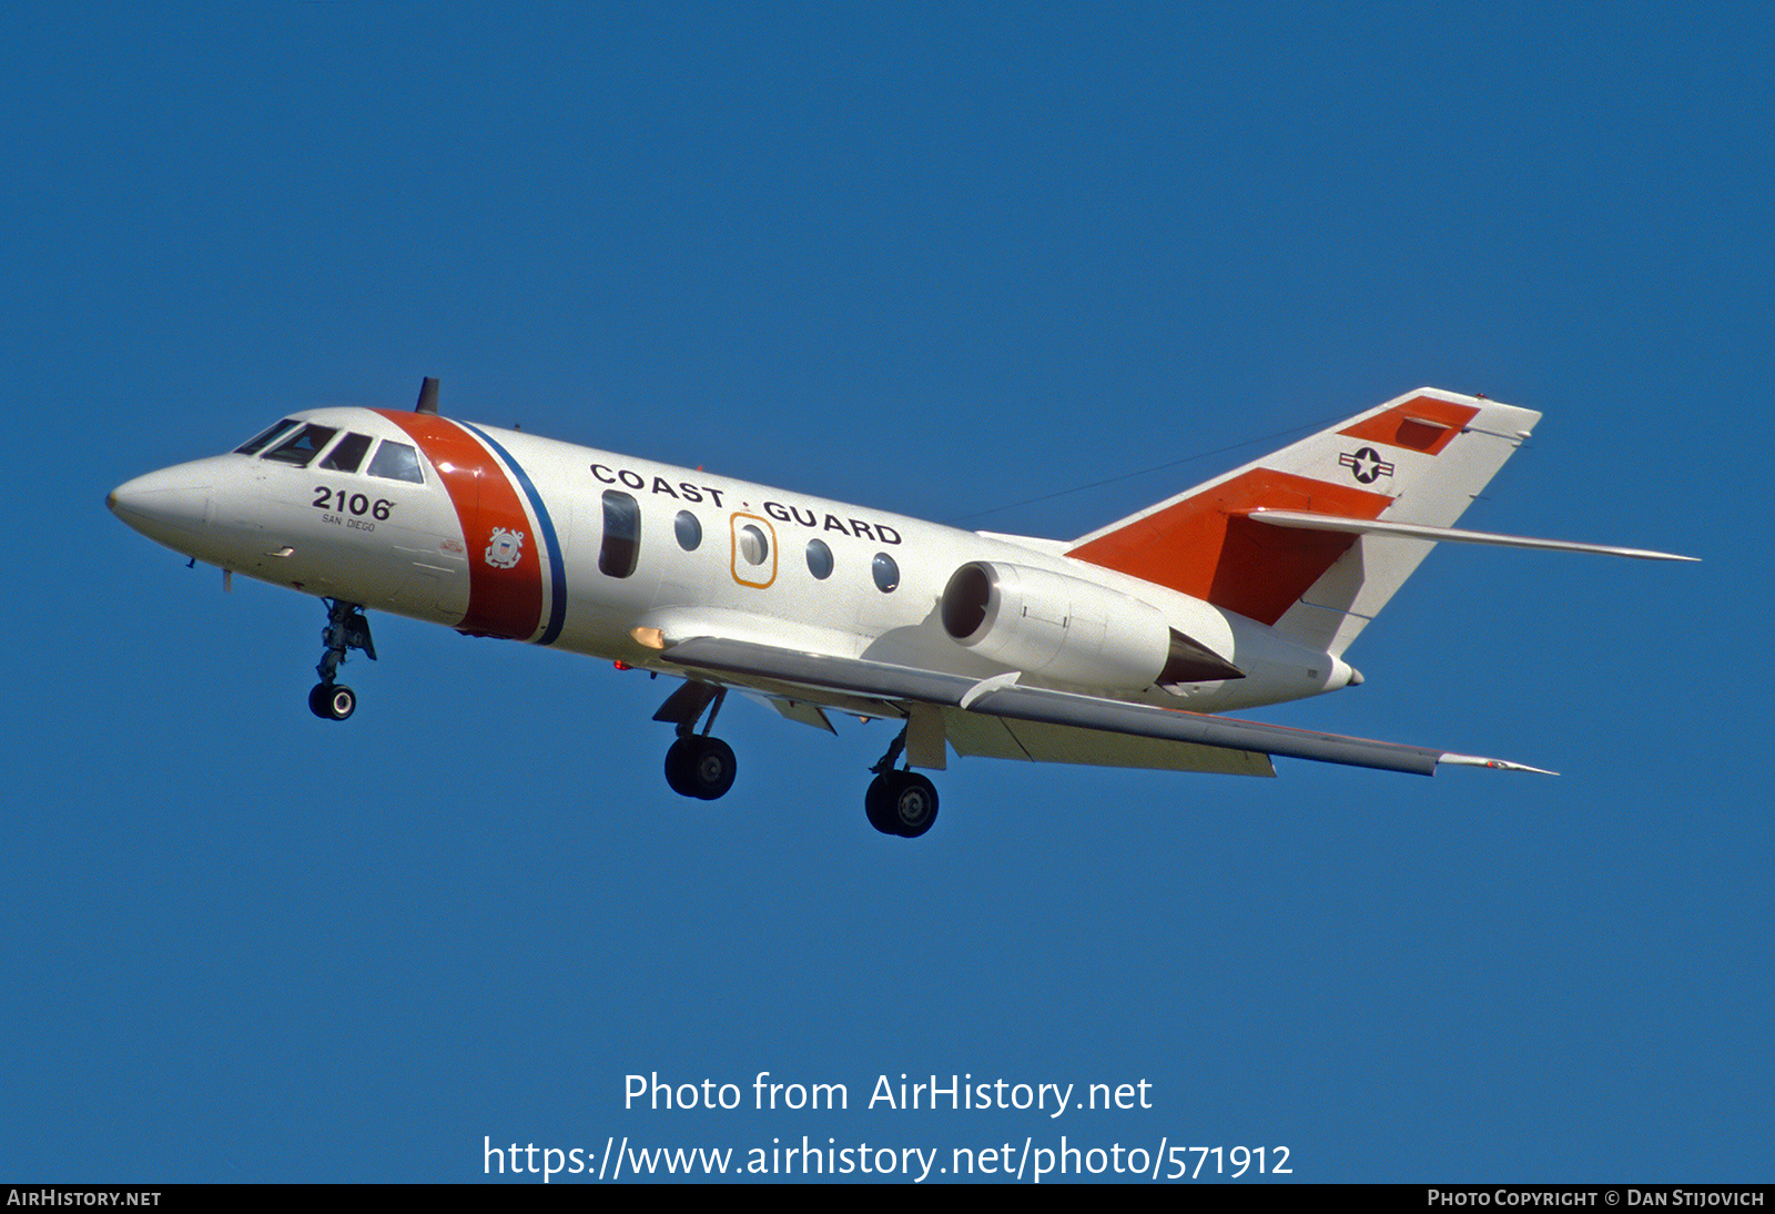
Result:
<svg viewBox="0 0 1775 1214">
<path fill-rule="evenodd" d="M 387 408 L 376 414 L 405 430 L 426 453 L 462 522 L 469 548 L 469 612 L 456 625 L 458 632 L 529 641 L 543 618 L 541 543 L 511 477 L 474 435 L 446 417 Z M 511 568 L 486 559 L 499 529 L 524 536 Z"/>
</svg>

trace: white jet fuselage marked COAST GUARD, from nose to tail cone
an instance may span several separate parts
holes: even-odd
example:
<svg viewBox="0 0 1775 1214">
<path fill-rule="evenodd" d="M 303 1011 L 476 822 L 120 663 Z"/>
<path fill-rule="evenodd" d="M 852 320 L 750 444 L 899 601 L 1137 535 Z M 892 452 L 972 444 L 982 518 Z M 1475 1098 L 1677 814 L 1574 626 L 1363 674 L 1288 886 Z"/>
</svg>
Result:
<svg viewBox="0 0 1775 1214">
<path fill-rule="evenodd" d="M 1040 572 L 1033 582 L 1058 575 L 1102 587 L 1111 603 L 1136 600 L 1244 673 L 1161 689 L 1024 667 L 1033 685 L 1225 710 L 1353 680 L 1322 650 L 1070 559 L 1054 541 L 958 531 L 435 415 L 321 408 L 288 421 L 337 433 L 307 467 L 264 451 L 215 456 L 130 481 L 112 508 L 167 547 L 279 586 L 662 671 L 673 671 L 662 642 L 721 635 L 1001 676 L 1019 666 L 957 642 L 941 619 L 951 575 L 990 563 Z M 357 470 L 323 467 L 339 435 L 417 447 L 422 483 L 373 476 L 369 460 Z M 1079 623 L 1051 627 L 1063 635 Z M 1102 644 L 1116 628 L 1116 619 L 1099 623 Z"/>
</svg>

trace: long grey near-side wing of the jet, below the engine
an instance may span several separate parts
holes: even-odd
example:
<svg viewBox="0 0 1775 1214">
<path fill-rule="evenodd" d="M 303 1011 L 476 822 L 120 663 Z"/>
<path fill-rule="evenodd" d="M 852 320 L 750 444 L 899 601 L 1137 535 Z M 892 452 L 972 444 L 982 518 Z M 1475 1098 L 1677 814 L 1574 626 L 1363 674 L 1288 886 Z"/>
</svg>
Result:
<svg viewBox="0 0 1775 1214">
<path fill-rule="evenodd" d="M 1211 751 L 1242 753 L 1251 758 L 1280 754 L 1283 758 L 1415 772 L 1418 776 L 1434 774 L 1441 763 L 1519 772 L 1542 770 L 1523 763 L 1454 754 L 1422 745 L 1370 742 L 1367 738 L 1349 738 L 1314 729 L 1290 729 L 1287 726 L 1241 721 L 1237 717 L 1209 717 L 1177 708 L 1132 705 L 1120 699 L 1079 696 L 1042 687 L 1021 687 L 1015 683 L 1015 673 L 982 682 L 966 674 L 946 674 L 866 658 L 802 653 L 754 641 L 730 641 L 722 637 L 690 637 L 667 646 L 662 657 L 687 669 L 708 671 L 717 676 L 738 674 L 749 680 L 793 683 L 861 699 L 934 705 L 943 708 L 944 717 L 951 721 L 951 710 L 998 717 L 1010 726 L 1014 737 L 1017 724 L 1028 722 L 1037 728 L 1061 726 L 1097 729 L 1127 738 L 1182 742 Z M 957 749 L 960 751 L 962 747 L 957 745 Z M 974 753 L 992 751 L 982 747 Z M 1074 758 L 1072 761 L 1083 760 Z M 1111 760 L 1111 763 L 1115 761 Z M 1147 763 L 1138 765 L 1145 767 Z M 1170 763 L 1164 765 L 1168 767 Z M 1237 770 L 1237 761 L 1209 770 Z M 1269 772 L 1248 770 L 1248 774 Z"/>
</svg>

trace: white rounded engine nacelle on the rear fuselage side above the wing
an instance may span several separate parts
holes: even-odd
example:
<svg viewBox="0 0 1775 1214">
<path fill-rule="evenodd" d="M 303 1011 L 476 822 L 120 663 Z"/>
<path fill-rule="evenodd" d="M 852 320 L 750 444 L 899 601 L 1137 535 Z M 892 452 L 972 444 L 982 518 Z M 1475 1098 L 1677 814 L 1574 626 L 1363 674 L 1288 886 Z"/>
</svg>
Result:
<svg viewBox="0 0 1775 1214">
<path fill-rule="evenodd" d="M 1060 683 L 1140 690 L 1159 680 L 1172 651 L 1157 607 L 1026 564 L 964 564 L 941 605 L 958 644 Z"/>
</svg>

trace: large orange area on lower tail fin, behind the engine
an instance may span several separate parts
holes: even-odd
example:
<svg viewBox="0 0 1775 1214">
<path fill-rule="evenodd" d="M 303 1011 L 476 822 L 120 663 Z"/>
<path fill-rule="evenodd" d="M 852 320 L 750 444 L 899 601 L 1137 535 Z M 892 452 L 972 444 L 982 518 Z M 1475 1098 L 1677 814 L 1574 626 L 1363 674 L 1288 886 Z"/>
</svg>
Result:
<svg viewBox="0 0 1775 1214">
<path fill-rule="evenodd" d="M 1379 518 L 1392 501 L 1384 493 L 1292 472 L 1251 469 L 1120 531 L 1097 536 L 1067 556 L 1273 625 L 1349 550 L 1356 536 L 1285 531 L 1242 518 L 1237 511 L 1267 506 Z"/>
</svg>

